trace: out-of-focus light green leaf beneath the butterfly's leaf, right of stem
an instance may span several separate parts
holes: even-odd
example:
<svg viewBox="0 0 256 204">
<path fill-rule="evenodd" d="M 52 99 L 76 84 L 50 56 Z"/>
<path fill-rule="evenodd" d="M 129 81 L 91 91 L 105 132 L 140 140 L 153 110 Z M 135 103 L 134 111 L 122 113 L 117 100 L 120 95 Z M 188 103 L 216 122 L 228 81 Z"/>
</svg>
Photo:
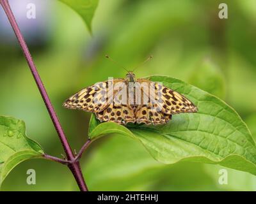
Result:
<svg viewBox="0 0 256 204">
<path fill-rule="evenodd" d="M 157 180 L 154 175 L 165 166 L 129 137 L 111 136 L 99 145 L 82 166 L 91 191 L 147 191 L 145 187 Z"/>
</svg>

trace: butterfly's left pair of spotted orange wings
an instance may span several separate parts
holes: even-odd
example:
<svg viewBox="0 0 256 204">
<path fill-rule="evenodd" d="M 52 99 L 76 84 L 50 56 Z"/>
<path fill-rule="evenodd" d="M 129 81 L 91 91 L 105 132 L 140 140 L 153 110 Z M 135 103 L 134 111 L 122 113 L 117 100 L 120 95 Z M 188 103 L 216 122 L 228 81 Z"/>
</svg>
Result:
<svg viewBox="0 0 256 204">
<path fill-rule="evenodd" d="M 127 124 L 135 122 L 134 112 L 128 101 L 122 103 L 120 92 L 127 94 L 127 81 L 124 79 L 108 80 L 86 87 L 68 98 L 63 106 L 95 113 L 100 122 Z M 128 100 L 128 98 L 127 98 Z"/>
</svg>

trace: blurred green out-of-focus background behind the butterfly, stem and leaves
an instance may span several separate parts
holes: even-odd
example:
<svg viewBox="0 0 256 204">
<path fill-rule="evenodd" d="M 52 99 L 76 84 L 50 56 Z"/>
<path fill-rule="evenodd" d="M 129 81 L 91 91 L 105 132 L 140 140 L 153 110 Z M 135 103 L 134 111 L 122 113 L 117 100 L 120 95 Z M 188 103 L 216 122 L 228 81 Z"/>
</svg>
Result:
<svg viewBox="0 0 256 204">
<path fill-rule="evenodd" d="M 19 3 L 17 3 L 19 2 Z M 93 36 L 79 15 L 50 0 L 10 1 L 44 85 L 70 145 L 86 140 L 90 113 L 65 110 L 63 101 L 83 87 L 108 77 L 122 78 L 124 69 L 137 77 L 168 75 L 220 97 L 232 106 L 256 136 L 256 1 L 108 0 L 99 2 Z M 26 5 L 36 4 L 36 19 L 26 18 Z M 218 18 L 227 3 L 228 19 Z M 26 122 L 28 136 L 45 152 L 61 157 L 60 141 L 42 98 L 0 10 L 0 114 Z M 90 190 L 255 191 L 255 176 L 228 168 L 228 184 L 218 183 L 221 166 L 200 163 L 165 165 L 142 145 L 113 135 L 92 143 L 81 161 Z M 26 171 L 36 170 L 36 185 Z M 3 191 L 78 190 L 66 166 L 43 159 L 17 166 Z"/>
</svg>

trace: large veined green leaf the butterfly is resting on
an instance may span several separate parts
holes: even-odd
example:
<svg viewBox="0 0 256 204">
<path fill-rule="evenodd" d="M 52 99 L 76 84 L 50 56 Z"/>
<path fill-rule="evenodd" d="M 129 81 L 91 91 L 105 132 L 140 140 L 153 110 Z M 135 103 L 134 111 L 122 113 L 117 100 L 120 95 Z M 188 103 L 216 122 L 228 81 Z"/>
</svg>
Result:
<svg viewBox="0 0 256 204">
<path fill-rule="evenodd" d="M 139 140 L 148 152 L 166 164 L 179 161 L 221 164 L 256 175 L 256 146 L 241 117 L 221 99 L 192 85 L 170 77 L 148 77 L 184 94 L 198 107 L 198 113 L 173 115 L 163 126 L 120 126 L 96 122 L 89 136 L 119 133 Z M 93 116 L 91 120 L 95 120 Z"/>
</svg>

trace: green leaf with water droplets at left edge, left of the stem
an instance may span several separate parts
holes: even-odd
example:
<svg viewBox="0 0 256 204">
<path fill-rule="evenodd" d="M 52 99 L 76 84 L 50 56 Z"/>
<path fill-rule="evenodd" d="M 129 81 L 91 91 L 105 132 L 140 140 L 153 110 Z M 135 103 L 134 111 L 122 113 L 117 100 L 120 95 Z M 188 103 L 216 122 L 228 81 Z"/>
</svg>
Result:
<svg viewBox="0 0 256 204">
<path fill-rule="evenodd" d="M 17 164 L 43 153 L 42 147 L 26 136 L 22 120 L 0 116 L 0 186 Z"/>
</svg>

